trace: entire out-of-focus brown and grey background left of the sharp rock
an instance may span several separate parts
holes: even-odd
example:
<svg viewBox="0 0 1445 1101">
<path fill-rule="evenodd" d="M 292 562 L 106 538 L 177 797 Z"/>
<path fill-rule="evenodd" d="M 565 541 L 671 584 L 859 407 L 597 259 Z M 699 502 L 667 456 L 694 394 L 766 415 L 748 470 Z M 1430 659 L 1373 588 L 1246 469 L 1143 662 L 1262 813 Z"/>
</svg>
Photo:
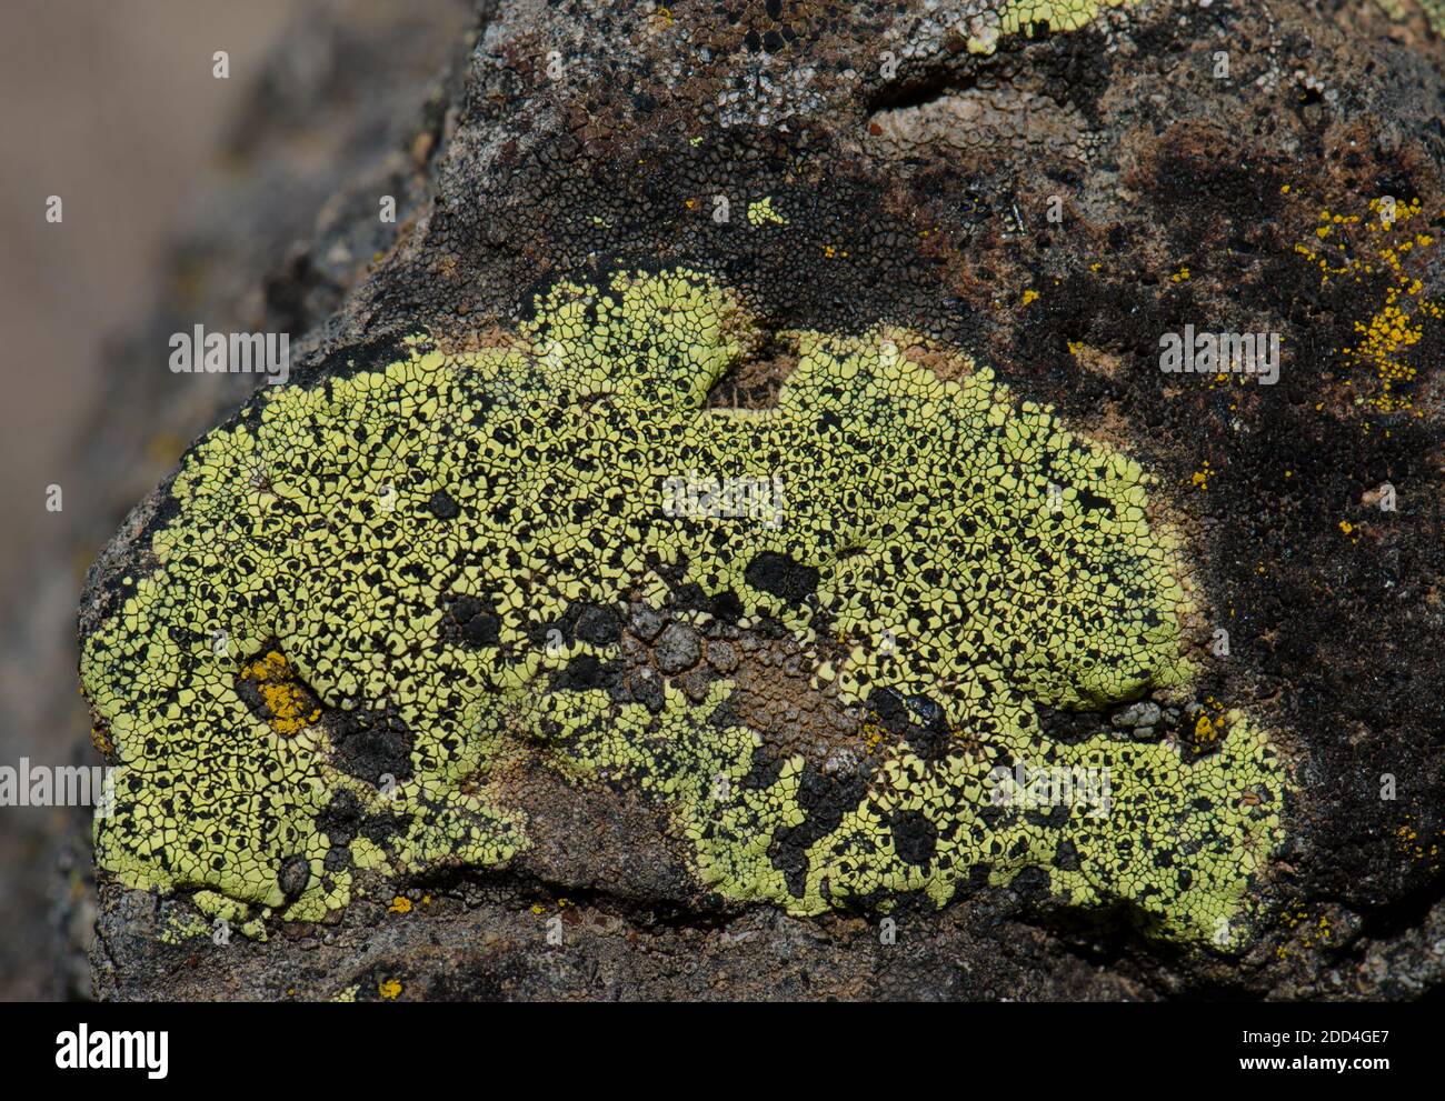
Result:
<svg viewBox="0 0 1445 1101">
<path fill-rule="evenodd" d="M 423 108 L 473 22 L 464 0 L 6 1 L 0 766 L 98 763 L 75 682 L 85 569 L 254 384 L 171 374 L 169 334 L 295 348 L 325 321 L 387 244 L 342 231 L 348 192 L 373 211 L 397 194 L 405 221 L 439 126 Z M 88 996 L 87 816 L 0 806 L 3 998 Z"/>
</svg>

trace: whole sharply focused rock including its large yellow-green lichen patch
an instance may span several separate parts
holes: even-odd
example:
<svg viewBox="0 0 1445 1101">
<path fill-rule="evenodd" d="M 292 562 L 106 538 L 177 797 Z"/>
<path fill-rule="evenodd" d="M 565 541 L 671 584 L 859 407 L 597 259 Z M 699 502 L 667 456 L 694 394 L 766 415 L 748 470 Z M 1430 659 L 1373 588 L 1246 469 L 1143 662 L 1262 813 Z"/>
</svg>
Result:
<svg viewBox="0 0 1445 1101">
<path fill-rule="evenodd" d="M 483 6 L 91 572 L 100 994 L 1438 987 L 1435 14 Z"/>
</svg>

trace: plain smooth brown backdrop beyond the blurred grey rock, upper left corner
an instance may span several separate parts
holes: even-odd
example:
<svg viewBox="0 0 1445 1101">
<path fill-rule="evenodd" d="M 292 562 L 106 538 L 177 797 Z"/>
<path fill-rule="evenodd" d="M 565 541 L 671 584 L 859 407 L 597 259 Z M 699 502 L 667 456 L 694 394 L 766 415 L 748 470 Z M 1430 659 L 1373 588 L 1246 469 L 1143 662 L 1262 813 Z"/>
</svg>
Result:
<svg viewBox="0 0 1445 1101">
<path fill-rule="evenodd" d="M 0 584 L 20 582 L 77 481 L 75 433 L 104 341 L 144 311 L 178 212 L 207 172 L 298 0 L 7 0 L 0 32 Z M 211 75 L 230 52 L 231 77 Z M 64 221 L 45 220 L 59 195 Z M 52 549 L 53 552 L 53 549 Z"/>
</svg>

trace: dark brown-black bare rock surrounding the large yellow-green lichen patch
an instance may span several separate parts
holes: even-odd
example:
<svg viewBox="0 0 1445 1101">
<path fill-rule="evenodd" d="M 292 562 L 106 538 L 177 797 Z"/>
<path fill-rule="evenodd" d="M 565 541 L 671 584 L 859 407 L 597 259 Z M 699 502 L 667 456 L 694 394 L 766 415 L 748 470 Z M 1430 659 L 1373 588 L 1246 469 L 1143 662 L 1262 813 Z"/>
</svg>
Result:
<svg viewBox="0 0 1445 1101">
<path fill-rule="evenodd" d="M 1445 299 L 1445 133 L 1431 121 L 1445 49 L 1371 4 L 1142 3 L 1068 33 L 996 35 L 997 7 L 483 4 L 464 71 L 428 108 L 436 146 L 415 217 L 360 285 L 325 299 L 335 312 L 293 384 L 384 366 L 419 331 L 486 342 L 558 279 L 669 266 L 715 273 L 766 328 L 718 383 L 731 403 L 773 403 L 798 329 L 881 319 L 968 350 L 1136 457 L 1150 523 L 1186 549 L 1199 676 L 1189 698 L 1108 701 L 1116 737 L 1207 760 L 1227 708 L 1247 708 L 1289 767 L 1244 951 L 1160 945 L 1124 907 L 1065 909 L 1038 868 L 990 887 L 974 867 L 942 909 L 900 896 L 896 939 L 880 936 L 879 899 L 818 918 L 727 902 L 623 777 L 578 795 L 535 738 L 487 779 L 533 834 L 501 871 L 370 881 L 325 923 L 282 935 L 253 916 L 228 946 L 199 939 L 184 899 L 101 874 L 104 997 L 381 997 L 399 983 L 407 998 L 1405 998 L 1441 985 L 1445 327 L 1426 303 Z M 1162 371 L 1160 338 L 1185 327 L 1280 334 L 1277 380 Z M 425 504 L 434 527 L 461 522 L 449 497 Z M 82 634 L 143 558 L 140 530 L 92 571 Z M 786 607 L 811 607 L 824 582 L 780 550 L 746 574 Z M 575 610 L 559 644 L 618 647 L 633 665 L 575 662 L 551 688 L 607 688 L 657 715 L 668 682 L 649 649 L 668 676 L 698 669 L 694 702 L 708 668 L 736 675 L 733 705 L 764 743 L 737 787 L 803 761 L 803 821 L 769 850 L 790 884 L 867 790 L 874 751 L 988 753 L 985 733 L 949 730 L 935 702 L 946 686 L 848 714 L 736 594 L 695 590 L 673 587 L 670 624 L 652 594 Z M 448 605 L 442 630 L 480 621 L 474 643 L 493 646 L 490 613 L 467 600 L 477 607 Z M 724 629 L 727 642 L 707 633 Z M 1105 737 L 1107 711 L 1043 702 L 1042 740 Z M 384 730 L 394 737 L 344 740 L 363 770 L 399 772 L 412 743 Z M 348 822 L 348 837 L 364 831 Z M 883 822 L 876 844 L 915 868 L 954 842 L 913 808 Z M 1053 867 L 1079 858 L 1061 842 Z"/>
</svg>

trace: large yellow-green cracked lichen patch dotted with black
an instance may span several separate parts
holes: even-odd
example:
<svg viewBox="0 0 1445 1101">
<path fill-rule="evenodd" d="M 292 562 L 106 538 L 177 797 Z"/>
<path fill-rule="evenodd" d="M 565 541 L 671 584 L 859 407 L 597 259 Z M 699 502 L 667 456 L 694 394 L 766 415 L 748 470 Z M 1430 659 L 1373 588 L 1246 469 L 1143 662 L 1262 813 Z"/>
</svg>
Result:
<svg viewBox="0 0 1445 1101">
<path fill-rule="evenodd" d="M 264 389 L 185 457 L 153 569 L 85 642 L 120 764 L 98 864 L 212 913 L 319 918 L 355 868 L 522 851 L 501 766 L 525 746 L 668 808 L 727 899 L 942 904 L 1033 868 L 1071 904 L 1244 944 L 1280 831 L 1263 731 L 1231 714 L 1198 756 L 1040 725 L 1192 676 L 1140 467 L 910 334 L 790 338 L 776 406 L 704 409 L 763 335 L 708 276 L 618 273 L 555 286 L 481 351 L 413 338 Z M 679 510 L 676 478 L 780 485 L 782 517 Z M 857 753 L 769 743 L 733 702 L 746 665 L 629 689 L 637 607 L 780 631 L 809 691 L 866 717 Z M 926 722 L 880 738 L 894 699 Z M 1016 761 L 1107 769 L 1108 812 L 993 806 Z"/>
</svg>

